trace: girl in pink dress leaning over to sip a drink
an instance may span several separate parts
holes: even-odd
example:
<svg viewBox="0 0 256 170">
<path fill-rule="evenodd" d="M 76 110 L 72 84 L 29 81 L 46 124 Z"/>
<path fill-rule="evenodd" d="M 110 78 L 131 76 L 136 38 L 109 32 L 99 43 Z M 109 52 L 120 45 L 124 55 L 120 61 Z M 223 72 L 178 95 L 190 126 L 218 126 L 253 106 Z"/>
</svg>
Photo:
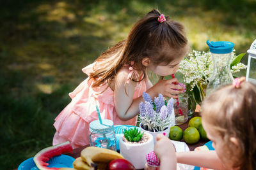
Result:
<svg viewBox="0 0 256 170">
<path fill-rule="evenodd" d="M 53 145 L 70 141 L 73 148 L 89 144 L 89 124 L 100 116 L 114 125 L 135 125 L 141 96 L 154 98 L 182 92 L 178 80 L 160 80 L 154 86 L 147 71 L 159 76 L 174 74 L 188 52 L 183 25 L 150 11 L 129 32 L 129 36 L 102 53 L 83 72 L 88 75 L 73 92 L 72 101 L 56 117 Z M 174 90 L 178 89 L 178 90 Z"/>
</svg>

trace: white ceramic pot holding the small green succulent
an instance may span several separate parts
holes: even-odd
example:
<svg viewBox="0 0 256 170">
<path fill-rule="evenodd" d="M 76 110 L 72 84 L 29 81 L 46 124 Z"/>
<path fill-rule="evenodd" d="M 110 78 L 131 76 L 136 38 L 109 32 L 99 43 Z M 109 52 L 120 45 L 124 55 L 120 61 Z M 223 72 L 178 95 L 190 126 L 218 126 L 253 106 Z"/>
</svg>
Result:
<svg viewBox="0 0 256 170">
<path fill-rule="evenodd" d="M 120 154 L 132 165 L 135 169 L 143 169 L 146 164 L 146 157 L 149 152 L 154 150 L 154 140 L 152 134 L 145 132 L 149 136 L 145 143 L 125 143 L 123 136 L 119 138 Z"/>
</svg>

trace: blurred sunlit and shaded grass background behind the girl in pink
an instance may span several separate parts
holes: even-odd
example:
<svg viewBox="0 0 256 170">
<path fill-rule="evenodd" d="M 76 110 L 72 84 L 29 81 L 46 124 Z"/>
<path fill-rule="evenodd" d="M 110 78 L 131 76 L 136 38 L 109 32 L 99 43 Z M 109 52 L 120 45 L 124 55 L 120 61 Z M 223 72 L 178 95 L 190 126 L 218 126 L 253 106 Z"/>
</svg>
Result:
<svg viewBox="0 0 256 170">
<path fill-rule="evenodd" d="M 52 145 L 54 118 L 70 102 L 68 92 L 86 78 L 81 69 L 124 39 L 152 8 L 184 24 L 195 50 L 208 50 L 205 42 L 210 39 L 232 41 L 241 53 L 256 38 L 255 0 L 0 4 L 1 169 L 17 168 Z"/>
</svg>

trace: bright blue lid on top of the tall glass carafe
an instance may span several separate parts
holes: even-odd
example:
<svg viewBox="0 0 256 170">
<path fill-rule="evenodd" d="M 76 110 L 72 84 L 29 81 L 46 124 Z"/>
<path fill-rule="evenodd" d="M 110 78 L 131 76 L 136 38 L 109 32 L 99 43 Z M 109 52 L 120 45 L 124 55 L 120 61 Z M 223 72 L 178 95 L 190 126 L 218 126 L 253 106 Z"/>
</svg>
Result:
<svg viewBox="0 0 256 170">
<path fill-rule="evenodd" d="M 234 48 L 234 43 L 228 41 L 206 41 L 211 53 L 230 53 Z"/>
</svg>

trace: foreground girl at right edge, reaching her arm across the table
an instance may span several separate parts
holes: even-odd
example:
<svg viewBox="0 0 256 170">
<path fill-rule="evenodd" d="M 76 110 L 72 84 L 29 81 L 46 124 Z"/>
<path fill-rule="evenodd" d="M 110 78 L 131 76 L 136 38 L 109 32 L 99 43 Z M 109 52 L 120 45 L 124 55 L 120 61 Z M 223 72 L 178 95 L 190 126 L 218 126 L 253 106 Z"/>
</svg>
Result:
<svg viewBox="0 0 256 170">
<path fill-rule="evenodd" d="M 176 162 L 210 169 L 255 169 L 256 85 L 244 80 L 237 78 L 233 85 L 222 87 L 203 103 L 202 124 L 215 151 L 175 155 L 170 140 L 158 136 L 156 153 L 162 159 L 172 160 L 172 163 L 163 160 L 161 169 L 168 166 L 175 169 Z"/>
</svg>

